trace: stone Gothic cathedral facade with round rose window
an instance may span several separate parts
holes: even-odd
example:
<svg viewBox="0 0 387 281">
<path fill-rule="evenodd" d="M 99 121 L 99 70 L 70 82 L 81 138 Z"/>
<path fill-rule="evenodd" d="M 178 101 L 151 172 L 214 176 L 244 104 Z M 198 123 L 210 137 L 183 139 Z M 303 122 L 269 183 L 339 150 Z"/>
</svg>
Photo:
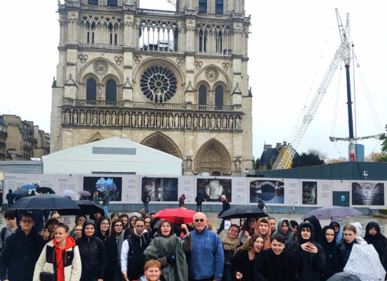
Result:
<svg viewBox="0 0 387 281">
<path fill-rule="evenodd" d="M 58 4 L 51 152 L 118 136 L 183 159 L 186 175 L 243 174 L 253 160 L 244 1 L 139 2 Z"/>
</svg>

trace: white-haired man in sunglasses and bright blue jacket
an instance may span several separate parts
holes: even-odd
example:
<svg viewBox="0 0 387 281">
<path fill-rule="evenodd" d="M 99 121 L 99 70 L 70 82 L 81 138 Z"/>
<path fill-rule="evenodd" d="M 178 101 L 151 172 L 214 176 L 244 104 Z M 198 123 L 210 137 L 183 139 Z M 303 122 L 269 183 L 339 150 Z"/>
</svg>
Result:
<svg viewBox="0 0 387 281">
<path fill-rule="evenodd" d="M 208 230 L 205 214 L 194 215 L 192 250 L 188 262 L 189 281 L 222 280 L 224 253 L 220 237 Z"/>
</svg>

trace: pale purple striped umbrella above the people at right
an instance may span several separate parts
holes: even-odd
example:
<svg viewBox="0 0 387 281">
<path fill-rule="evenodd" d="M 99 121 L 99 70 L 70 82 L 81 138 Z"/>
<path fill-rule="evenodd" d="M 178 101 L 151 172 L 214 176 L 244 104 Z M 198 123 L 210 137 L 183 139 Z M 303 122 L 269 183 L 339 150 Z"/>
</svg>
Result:
<svg viewBox="0 0 387 281">
<path fill-rule="evenodd" d="M 338 218 L 350 218 L 351 216 L 360 216 L 362 213 L 357 211 L 355 208 L 351 207 L 341 207 L 341 206 L 329 206 L 314 209 L 308 211 L 304 218 L 309 218 L 310 216 L 315 216 L 319 220 L 324 219 L 338 219 Z"/>
</svg>

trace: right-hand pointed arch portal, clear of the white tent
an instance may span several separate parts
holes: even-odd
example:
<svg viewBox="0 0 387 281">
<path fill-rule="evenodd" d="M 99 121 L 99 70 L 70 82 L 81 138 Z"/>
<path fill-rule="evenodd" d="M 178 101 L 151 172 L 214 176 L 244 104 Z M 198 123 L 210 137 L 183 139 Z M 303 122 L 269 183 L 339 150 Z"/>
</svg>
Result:
<svg viewBox="0 0 387 281">
<path fill-rule="evenodd" d="M 211 176 L 231 175 L 231 157 L 227 148 L 215 138 L 204 143 L 196 153 L 194 174 L 209 172 Z"/>
</svg>

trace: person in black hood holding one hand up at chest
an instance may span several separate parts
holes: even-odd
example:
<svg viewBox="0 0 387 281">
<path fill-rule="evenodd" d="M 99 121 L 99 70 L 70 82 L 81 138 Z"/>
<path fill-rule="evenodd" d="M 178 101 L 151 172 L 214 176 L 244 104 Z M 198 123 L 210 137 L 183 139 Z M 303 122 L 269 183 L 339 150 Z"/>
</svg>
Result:
<svg viewBox="0 0 387 281">
<path fill-rule="evenodd" d="M 326 272 L 324 250 L 315 242 L 312 223 L 300 223 L 297 241 L 288 245 L 288 253 L 294 267 L 294 280 L 319 281 Z"/>
</svg>

